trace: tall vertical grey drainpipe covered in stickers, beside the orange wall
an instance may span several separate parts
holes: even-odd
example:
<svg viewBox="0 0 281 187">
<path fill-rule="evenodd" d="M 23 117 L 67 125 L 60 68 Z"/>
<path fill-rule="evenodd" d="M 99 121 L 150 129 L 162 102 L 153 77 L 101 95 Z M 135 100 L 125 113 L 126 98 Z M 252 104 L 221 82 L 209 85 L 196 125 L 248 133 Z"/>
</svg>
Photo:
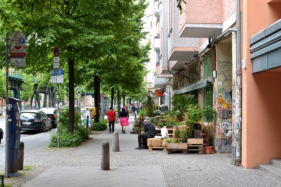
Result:
<svg viewBox="0 0 281 187">
<path fill-rule="evenodd" d="M 237 61 L 237 85 L 236 85 L 236 154 L 235 154 L 235 165 L 241 166 L 242 161 L 242 148 L 241 148 L 241 140 L 242 140 L 242 84 L 241 84 L 241 48 L 242 48 L 242 12 L 240 12 L 240 0 L 236 0 L 236 61 Z"/>
</svg>

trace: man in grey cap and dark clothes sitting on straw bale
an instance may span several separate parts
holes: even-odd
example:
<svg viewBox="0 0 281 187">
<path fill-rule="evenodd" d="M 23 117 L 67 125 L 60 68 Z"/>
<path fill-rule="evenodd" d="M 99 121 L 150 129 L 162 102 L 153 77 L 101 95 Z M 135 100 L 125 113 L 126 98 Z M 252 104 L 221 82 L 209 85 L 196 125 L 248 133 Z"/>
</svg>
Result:
<svg viewBox="0 0 281 187">
<path fill-rule="evenodd" d="M 145 119 L 143 123 L 145 124 L 145 129 L 144 129 L 145 134 L 138 135 L 139 146 L 136 147 L 135 149 L 145 149 L 145 141 L 148 138 L 154 138 L 157 135 L 154 125 L 150 123 L 148 119 Z M 141 138 L 142 138 L 142 146 L 141 146 Z"/>
</svg>

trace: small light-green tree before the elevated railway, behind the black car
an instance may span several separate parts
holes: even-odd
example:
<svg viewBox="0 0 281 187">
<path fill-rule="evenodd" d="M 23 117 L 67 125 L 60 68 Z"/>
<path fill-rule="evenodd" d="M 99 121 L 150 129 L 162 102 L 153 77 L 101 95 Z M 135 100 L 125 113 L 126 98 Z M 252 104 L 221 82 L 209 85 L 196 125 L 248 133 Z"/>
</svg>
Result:
<svg viewBox="0 0 281 187">
<path fill-rule="evenodd" d="M 32 81 L 32 75 L 29 74 L 24 74 L 23 80 L 24 82 L 22 83 L 22 90 L 20 93 L 22 101 L 25 101 L 25 105 L 27 105 L 27 101 L 30 100 L 34 94 L 33 86 L 35 82 Z"/>
</svg>

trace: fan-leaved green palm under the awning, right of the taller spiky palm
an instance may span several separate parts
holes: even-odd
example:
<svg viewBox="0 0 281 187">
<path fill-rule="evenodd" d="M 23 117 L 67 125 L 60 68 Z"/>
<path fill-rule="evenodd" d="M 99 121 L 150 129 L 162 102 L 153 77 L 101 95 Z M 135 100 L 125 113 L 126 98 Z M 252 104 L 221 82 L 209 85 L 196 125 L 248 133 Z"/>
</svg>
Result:
<svg viewBox="0 0 281 187">
<path fill-rule="evenodd" d="M 197 98 L 193 94 L 175 95 L 170 98 L 173 105 L 173 111 L 179 110 L 181 113 L 185 113 L 189 105 L 197 102 Z"/>
</svg>

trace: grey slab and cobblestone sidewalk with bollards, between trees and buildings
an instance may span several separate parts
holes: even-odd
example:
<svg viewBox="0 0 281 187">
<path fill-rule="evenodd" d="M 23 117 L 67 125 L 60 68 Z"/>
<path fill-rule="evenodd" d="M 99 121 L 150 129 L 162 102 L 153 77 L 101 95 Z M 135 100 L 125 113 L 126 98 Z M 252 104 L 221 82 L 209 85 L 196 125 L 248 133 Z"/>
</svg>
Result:
<svg viewBox="0 0 281 187">
<path fill-rule="evenodd" d="M 245 169 L 231 165 L 230 153 L 211 155 L 183 155 L 167 152 L 136 150 L 137 134 L 128 133 L 133 117 L 129 118 L 126 134 L 121 133 L 120 123 L 115 124 L 119 133 L 120 152 L 112 152 L 112 133 L 106 129 L 80 147 L 48 148 L 42 143 L 34 150 L 28 149 L 24 165 L 34 166 L 32 175 L 18 180 L 22 187 L 49 186 L 281 186 L 281 182 L 258 169 Z M 25 148 L 39 140 L 47 140 L 48 133 L 24 140 Z M 100 170 L 101 143 L 110 144 L 110 170 Z M 40 143 L 39 143 L 40 144 Z M 0 147 L 1 148 L 1 147 Z M 2 147 L 3 148 L 3 147 Z M 0 150 L 1 155 L 3 154 Z M 1 156 L 0 155 L 0 156 Z M 0 166 L 5 160 L 0 157 Z M 197 166 L 200 171 L 182 171 Z M 20 175 L 22 176 L 22 175 Z"/>
</svg>

